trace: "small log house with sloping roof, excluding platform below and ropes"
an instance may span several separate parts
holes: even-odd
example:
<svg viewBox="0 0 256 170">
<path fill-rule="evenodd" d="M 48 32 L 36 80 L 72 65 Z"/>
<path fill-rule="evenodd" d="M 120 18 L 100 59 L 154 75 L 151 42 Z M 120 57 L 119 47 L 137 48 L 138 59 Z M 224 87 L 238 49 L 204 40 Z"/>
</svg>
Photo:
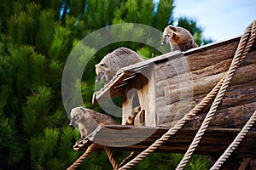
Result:
<svg viewBox="0 0 256 170">
<path fill-rule="evenodd" d="M 187 52 L 170 52 L 121 69 L 94 102 L 122 96 L 123 124 L 137 106 L 145 111 L 144 125 L 172 127 L 203 99 L 230 67 L 241 37 Z M 236 70 L 210 127 L 242 127 L 256 110 L 256 48 Z M 206 107 L 201 113 L 207 111 Z M 190 122 L 192 127 L 200 126 Z"/>
</svg>

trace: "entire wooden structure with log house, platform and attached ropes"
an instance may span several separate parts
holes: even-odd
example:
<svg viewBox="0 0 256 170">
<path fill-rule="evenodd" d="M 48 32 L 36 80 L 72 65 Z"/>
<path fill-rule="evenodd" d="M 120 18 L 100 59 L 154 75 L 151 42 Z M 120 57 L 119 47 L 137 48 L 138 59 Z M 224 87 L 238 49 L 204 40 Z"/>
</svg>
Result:
<svg viewBox="0 0 256 170">
<path fill-rule="evenodd" d="M 114 169 L 130 169 L 154 151 L 184 153 L 177 169 L 193 153 L 210 156 L 211 169 L 256 168 L 255 38 L 254 20 L 241 37 L 119 70 L 93 102 L 122 96 L 123 125 L 98 127 L 74 144 L 74 150 L 85 153 L 69 169 L 102 149 Z M 138 118 L 135 126 L 125 126 L 137 106 L 144 110 L 143 122 Z M 124 150 L 136 152 L 119 165 L 112 152 Z"/>
</svg>

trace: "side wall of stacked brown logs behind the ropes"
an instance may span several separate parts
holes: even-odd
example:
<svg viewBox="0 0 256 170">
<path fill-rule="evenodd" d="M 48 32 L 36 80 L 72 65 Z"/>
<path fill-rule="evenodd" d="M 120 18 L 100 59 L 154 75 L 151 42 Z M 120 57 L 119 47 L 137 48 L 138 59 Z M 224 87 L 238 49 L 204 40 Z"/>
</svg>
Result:
<svg viewBox="0 0 256 170">
<path fill-rule="evenodd" d="M 180 57 L 155 65 L 158 126 L 172 126 L 212 90 L 229 69 L 238 42 L 239 38 L 235 38 L 230 42 L 218 43 L 213 48 L 184 53 L 185 59 Z M 189 65 L 189 69 L 183 65 Z M 256 109 L 255 73 L 254 45 L 237 68 L 218 107 L 218 113 L 212 120 L 212 127 L 242 127 L 247 121 Z M 207 105 L 200 114 L 206 113 L 209 107 L 210 105 Z M 198 120 L 190 122 L 189 125 L 199 126 L 204 116 L 198 116 Z"/>
</svg>

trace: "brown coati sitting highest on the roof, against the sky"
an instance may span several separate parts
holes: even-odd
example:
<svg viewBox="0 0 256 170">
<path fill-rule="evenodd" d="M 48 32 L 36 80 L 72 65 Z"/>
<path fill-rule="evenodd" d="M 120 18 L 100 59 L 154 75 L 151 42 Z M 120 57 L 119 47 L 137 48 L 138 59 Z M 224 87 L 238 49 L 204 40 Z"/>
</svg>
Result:
<svg viewBox="0 0 256 170">
<path fill-rule="evenodd" d="M 187 51 L 190 48 L 198 47 L 190 32 L 180 26 L 166 26 L 161 45 L 165 45 L 167 42 L 170 43 L 171 51 Z"/>
</svg>

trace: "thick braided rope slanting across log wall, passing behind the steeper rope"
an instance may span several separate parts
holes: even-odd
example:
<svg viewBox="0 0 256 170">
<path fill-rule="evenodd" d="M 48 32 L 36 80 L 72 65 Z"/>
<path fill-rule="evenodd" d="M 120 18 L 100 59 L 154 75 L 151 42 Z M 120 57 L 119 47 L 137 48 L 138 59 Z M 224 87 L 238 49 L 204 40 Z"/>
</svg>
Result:
<svg viewBox="0 0 256 170">
<path fill-rule="evenodd" d="M 199 111 L 201 111 L 217 94 L 218 90 L 221 87 L 222 83 L 224 81 L 224 77 L 218 82 L 218 84 L 212 88 L 212 91 L 207 94 L 207 96 L 201 100 L 201 102 L 198 105 L 195 105 L 195 108 L 193 108 L 191 111 L 189 111 L 188 114 L 183 116 L 182 119 L 180 119 L 174 127 L 171 127 L 160 139 L 157 139 L 154 144 L 151 144 L 148 146 L 146 150 L 143 150 L 142 153 L 140 153 L 138 156 L 136 156 L 134 159 L 132 159 L 130 162 L 126 163 L 125 166 L 120 167 L 119 169 L 129 169 L 133 166 L 135 166 L 139 161 L 142 161 L 143 158 L 148 156 L 151 152 L 154 152 L 161 144 L 163 144 L 166 140 L 168 140 L 173 134 L 177 133 L 179 129 L 181 129 L 186 122 L 189 122 L 193 116 L 196 116 Z"/>
</svg>

